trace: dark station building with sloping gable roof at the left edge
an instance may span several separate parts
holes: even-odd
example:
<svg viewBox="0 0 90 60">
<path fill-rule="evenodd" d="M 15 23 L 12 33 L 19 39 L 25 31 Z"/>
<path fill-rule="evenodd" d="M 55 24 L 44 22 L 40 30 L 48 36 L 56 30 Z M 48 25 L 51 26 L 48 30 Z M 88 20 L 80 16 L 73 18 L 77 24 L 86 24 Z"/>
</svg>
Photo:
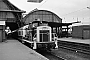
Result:
<svg viewBox="0 0 90 60">
<path fill-rule="evenodd" d="M 11 31 L 20 27 L 23 12 L 25 11 L 20 10 L 8 0 L 0 0 L 0 41 L 5 39 L 7 26 L 10 27 Z"/>
</svg>

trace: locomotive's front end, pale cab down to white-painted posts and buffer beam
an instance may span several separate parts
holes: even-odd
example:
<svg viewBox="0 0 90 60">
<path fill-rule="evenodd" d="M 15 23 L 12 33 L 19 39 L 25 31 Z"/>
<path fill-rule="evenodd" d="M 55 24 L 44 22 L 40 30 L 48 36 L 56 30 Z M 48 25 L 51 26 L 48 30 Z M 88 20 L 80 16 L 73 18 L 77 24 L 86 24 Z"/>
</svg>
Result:
<svg viewBox="0 0 90 60">
<path fill-rule="evenodd" d="M 55 34 L 52 37 L 51 27 L 49 26 L 39 26 L 36 28 L 36 34 L 34 34 L 33 41 L 34 46 L 33 49 L 44 48 L 58 48 L 57 40 Z"/>
</svg>

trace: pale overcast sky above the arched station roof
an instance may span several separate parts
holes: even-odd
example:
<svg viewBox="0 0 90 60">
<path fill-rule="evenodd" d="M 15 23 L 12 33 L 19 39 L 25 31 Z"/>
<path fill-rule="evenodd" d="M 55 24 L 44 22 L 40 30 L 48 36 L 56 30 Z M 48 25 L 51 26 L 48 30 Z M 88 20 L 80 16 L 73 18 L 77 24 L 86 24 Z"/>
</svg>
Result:
<svg viewBox="0 0 90 60">
<path fill-rule="evenodd" d="M 28 14 L 33 9 L 49 10 L 57 14 L 65 23 L 81 21 L 79 24 L 90 25 L 90 0 L 43 0 L 41 3 L 27 0 L 9 0 L 12 4 Z M 75 24 L 74 24 L 75 25 Z"/>
</svg>

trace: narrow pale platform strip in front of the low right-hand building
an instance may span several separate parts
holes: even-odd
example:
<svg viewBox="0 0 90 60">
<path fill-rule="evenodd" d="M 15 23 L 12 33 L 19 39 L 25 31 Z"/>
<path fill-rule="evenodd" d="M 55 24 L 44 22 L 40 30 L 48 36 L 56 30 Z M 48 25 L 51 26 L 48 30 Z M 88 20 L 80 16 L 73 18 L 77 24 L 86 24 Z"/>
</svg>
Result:
<svg viewBox="0 0 90 60">
<path fill-rule="evenodd" d="M 83 44 L 90 44 L 90 39 L 78 39 L 78 38 L 68 37 L 68 38 L 58 38 L 58 40 L 83 43 Z"/>
</svg>

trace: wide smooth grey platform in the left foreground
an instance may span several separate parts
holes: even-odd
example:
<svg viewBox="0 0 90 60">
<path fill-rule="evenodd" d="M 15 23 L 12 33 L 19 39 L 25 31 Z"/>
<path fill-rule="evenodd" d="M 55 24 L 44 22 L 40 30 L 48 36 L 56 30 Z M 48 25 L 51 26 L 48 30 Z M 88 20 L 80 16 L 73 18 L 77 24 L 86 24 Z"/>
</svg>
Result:
<svg viewBox="0 0 90 60">
<path fill-rule="evenodd" d="M 18 40 L 0 43 L 0 60 L 49 60 Z"/>
</svg>

